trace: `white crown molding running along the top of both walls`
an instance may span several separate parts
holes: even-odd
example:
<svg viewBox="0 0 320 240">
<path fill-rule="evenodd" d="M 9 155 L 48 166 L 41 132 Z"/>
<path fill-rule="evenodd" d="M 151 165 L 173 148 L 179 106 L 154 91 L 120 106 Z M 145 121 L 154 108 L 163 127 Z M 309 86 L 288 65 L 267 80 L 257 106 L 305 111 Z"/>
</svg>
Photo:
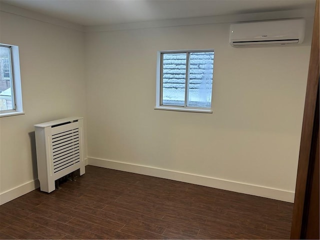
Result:
<svg viewBox="0 0 320 240">
<path fill-rule="evenodd" d="M 178 19 L 165 19 L 154 21 L 140 21 L 130 23 L 109 24 L 100 26 L 83 26 L 80 24 L 72 23 L 56 17 L 44 15 L 35 11 L 27 10 L 21 7 L 16 7 L 7 3 L 0 3 L 0 10 L 11 14 L 23 16 L 26 18 L 59 25 L 74 29 L 82 32 L 95 32 L 95 31 L 117 31 L 128 29 L 140 29 L 150 27 L 168 27 L 168 26 L 185 26 L 185 25 L 198 25 L 198 24 L 212 24 L 212 23 L 228 23 L 240 21 L 257 21 L 268 19 L 282 19 L 292 17 L 312 17 L 314 9 L 304 8 L 295 10 L 284 11 L 271 11 L 271 12 L 257 12 L 257 13 L 244 13 L 234 15 L 220 15 L 220 16 L 204 16 L 204 17 L 190 17 Z"/>
</svg>

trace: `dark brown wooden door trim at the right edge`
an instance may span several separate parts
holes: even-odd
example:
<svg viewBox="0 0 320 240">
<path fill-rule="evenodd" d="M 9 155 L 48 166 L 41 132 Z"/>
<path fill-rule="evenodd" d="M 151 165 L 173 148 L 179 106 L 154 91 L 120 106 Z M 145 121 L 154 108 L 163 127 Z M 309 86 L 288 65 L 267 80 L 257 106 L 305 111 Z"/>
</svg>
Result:
<svg viewBox="0 0 320 240">
<path fill-rule="evenodd" d="M 315 109 L 317 91 L 319 87 L 319 0 L 315 3 L 312 43 L 309 61 L 308 78 L 305 93 L 302 131 L 298 170 L 295 185 L 293 216 L 291 225 L 291 239 L 300 239 L 303 223 L 303 209 L 305 205 L 305 193 L 307 190 L 308 170 L 313 164 L 311 156 L 312 135 L 314 135 Z"/>
</svg>

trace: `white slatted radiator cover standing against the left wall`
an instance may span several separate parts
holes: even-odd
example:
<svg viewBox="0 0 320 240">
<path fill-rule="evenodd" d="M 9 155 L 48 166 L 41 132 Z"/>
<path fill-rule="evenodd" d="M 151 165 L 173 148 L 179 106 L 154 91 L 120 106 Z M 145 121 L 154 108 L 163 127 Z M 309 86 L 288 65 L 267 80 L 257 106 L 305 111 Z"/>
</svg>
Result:
<svg viewBox="0 0 320 240">
<path fill-rule="evenodd" d="M 51 192 L 54 181 L 74 170 L 84 174 L 83 117 L 67 117 L 35 124 L 40 190 Z"/>
</svg>

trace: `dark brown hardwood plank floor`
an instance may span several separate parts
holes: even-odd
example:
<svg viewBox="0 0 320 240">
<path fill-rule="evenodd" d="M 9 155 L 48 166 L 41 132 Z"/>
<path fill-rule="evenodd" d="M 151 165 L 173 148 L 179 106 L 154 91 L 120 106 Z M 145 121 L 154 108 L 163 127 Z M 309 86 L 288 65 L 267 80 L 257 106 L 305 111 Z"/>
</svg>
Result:
<svg viewBox="0 0 320 240">
<path fill-rule="evenodd" d="M 0 206 L 1 239 L 288 239 L 292 203 L 86 166 Z"/>
</svg>

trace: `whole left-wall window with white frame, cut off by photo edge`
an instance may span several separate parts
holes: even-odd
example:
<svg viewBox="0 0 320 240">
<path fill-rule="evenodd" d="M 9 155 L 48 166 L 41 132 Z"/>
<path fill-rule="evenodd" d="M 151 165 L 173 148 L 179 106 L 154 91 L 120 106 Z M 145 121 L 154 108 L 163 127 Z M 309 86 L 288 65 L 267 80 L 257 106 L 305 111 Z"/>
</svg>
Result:
<svg viewBox="0 0 320 240">
<path fill-rule="evenodd" d="M 0 116 L 22 114 L 18 47 L 0 44 Z"/>
</svg>

